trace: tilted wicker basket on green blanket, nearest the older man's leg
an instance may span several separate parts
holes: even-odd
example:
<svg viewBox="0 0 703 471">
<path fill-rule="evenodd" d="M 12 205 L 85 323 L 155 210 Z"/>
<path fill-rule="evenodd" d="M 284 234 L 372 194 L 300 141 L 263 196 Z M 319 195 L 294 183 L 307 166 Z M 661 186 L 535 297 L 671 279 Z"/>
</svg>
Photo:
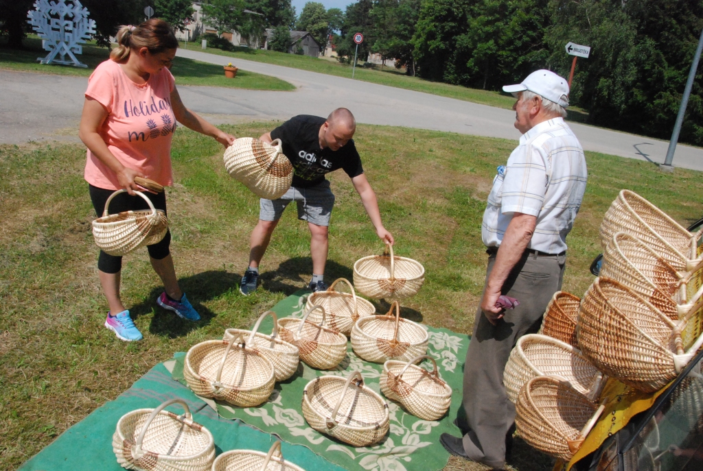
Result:
<svg viewBox="0 0 703 471">
<path fill-rule="evenodd" d="M 423 359 L 432 361 L 432 372 L 417 365 Z M 439 377 L 437 362 L 429 355 L 410 361 L 386 361 L 380 386 L 385 397 L 399 402 L 423 420 L 439 420 L 449 410 L 451 387 Z"/>
</svg>

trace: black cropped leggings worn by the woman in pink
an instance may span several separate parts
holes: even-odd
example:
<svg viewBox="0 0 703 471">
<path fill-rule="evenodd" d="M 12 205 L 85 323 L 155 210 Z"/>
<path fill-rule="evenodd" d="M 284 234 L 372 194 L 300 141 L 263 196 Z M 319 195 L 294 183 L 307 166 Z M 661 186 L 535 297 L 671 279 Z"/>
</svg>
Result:
<svg viewBox="0 0 703 471">
<path fill-rule="evenodd" d="M 90 199 L 93 201 L 93 208 L 98 217 L 103 215 L 105 211 L 105 202 L 108 201 L 110 194 L 114 193 L 115 190 L 105 190 L 104 188 L 93 187 L 93 185 L 88 185 L 90 191 Z M 151 203 L 157 209 L 162 209 L 166 211 L 166 193 L 144 193 Z M 149 205 L 146 201 L 142 199 L 138 194 L 133 197 L 129 193 L 120 193 L 116 197 L 112 198 L 110 201 L 110 214 L 122 213 L 123 211 L 138 211 L 140 209 L 148 209 Z M 167 230 L 166 235 L 160 242 L 153 245 L 146 246 L 149 251 L 149 256 L 156 260 L 161 260 L 166 258 L 171 251 L 169 251 L 169 246 L 171 245 L 171 231 Z M 98 270 L 105 273 L 119 273 L 122 270 L 122 257 L 117 257 L 100 251 L 100 256 L 98 256 Z"/>
</svg>

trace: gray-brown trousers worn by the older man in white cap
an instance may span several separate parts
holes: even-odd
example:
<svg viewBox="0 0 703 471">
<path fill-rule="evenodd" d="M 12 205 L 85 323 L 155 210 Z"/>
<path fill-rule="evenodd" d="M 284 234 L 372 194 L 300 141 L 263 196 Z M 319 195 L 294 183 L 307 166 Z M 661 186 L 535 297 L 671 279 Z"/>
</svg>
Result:
<svg viewBox="0 0 703 471">
<path fill-rule="evenodd" d="M 489 257 L 486 281 L 496 256 Z M 501 469 L 505 465 L 505 434 L 515 423 L 515 404 L 505 395 L 503 370 L 517 339 L 541 326 L 550 298 L 562 286 L 566 255 L 525 253 L 503 284 L 502 293 L 520 305 L 491 324 L 479 306 L 464 364 L 463 414 L 468 425 L 463 444 L 467 456 Z M 485 285 L 484 285 L 485 286 Z M 485 289 L 485 288 L 484 288 Z M 461 412 L 460 412 L 461 413 Z"/>
</svg>

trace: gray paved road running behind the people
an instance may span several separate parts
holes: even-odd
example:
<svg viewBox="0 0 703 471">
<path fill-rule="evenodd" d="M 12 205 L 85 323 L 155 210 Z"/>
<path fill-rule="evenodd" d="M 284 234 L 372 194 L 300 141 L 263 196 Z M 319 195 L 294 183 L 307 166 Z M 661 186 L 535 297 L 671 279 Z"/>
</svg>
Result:
<svg viewBox="0 0 703 471">
<path fill-rule="evenodd" d="M 178 55 L 214 64 L 226 60 L 183 49 Z M 512 127 L 515 114 L 509 110 L 249 60 L 238 59 L 236 65 L 289 81 L 298 87 L 297 91 L 181 86 L 179 92 L 186 106 L 215 122 L 325 115 L 335 107 L 348 107 L 360 123 L 514 140 L 519 137 Z M 79 120 L 86 79 L 0 71 L 0 83 L 0 142 L 60 139 L 71 134 L 68 138 L 75 139 L 70 130 Z M 664 161 L 668 142 L 576 123 L 571 126 L 586 150 Z M 679 145 L 674 165 L 703 171 L 703 150 Z"/>
</svg>

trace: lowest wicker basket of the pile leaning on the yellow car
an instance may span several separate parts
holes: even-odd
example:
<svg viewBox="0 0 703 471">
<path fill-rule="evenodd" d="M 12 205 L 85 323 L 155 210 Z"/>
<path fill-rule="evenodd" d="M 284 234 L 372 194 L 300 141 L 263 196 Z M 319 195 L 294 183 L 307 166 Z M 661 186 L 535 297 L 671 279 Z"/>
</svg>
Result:
<svg viewBox="0 0 703 471">
<path fill-rule="evenodd" d="M 569 461 L 605 406 L 596 406 L 559 378 L 538 376 L 522 388 L 515 409 L 517 433 L 527 444 Z"/>
</svg>

